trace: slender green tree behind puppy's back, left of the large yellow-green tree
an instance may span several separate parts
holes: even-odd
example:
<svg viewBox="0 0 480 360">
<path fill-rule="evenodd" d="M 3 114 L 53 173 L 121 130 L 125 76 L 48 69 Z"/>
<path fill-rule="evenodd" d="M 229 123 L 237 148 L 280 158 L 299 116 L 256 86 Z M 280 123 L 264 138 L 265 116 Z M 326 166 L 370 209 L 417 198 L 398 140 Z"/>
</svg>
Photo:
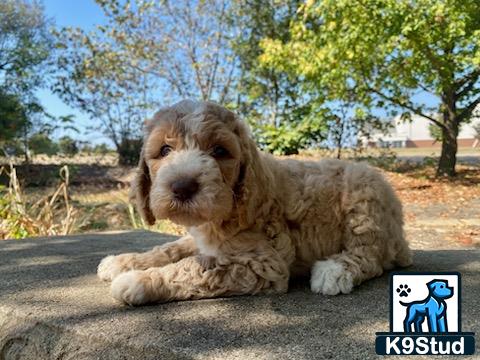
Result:
<svg viewBox="0 0 480 360">
<path fill-rule="evenodd" d="M 259 145 L 276 154 L 296 154 L 326 137 L 325 112 L 305 91 L 302 79 L 261 61 L 262 40 L 288 41 L 289 24 L 302 3 L 233 2 L 230 12 L 238 29 L 232 45 L 239 62 L 236 108 L 252 125 Z"/>
</svg>

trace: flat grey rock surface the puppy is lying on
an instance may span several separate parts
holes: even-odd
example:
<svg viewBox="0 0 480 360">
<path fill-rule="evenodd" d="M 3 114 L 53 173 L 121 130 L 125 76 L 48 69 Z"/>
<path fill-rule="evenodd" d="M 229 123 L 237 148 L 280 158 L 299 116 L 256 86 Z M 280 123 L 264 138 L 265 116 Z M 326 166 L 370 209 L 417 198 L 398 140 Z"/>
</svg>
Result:
<svg viewBox="0 0 480 360">
<path fill-rule="evenodd" d="M 0 359 L 370 359 L 388 331 L 388 275 L 325 297 L 288 294 L 131 308 L 95 275 L 108 254 L 174 237 L 151 232 L 0 242 Z M 480 334 L 480 250 L 416 251 L 411 271 L 462 273 L 462 330 Z M 420 357 L 416 357 L 417 359 Z"/>
</svg>

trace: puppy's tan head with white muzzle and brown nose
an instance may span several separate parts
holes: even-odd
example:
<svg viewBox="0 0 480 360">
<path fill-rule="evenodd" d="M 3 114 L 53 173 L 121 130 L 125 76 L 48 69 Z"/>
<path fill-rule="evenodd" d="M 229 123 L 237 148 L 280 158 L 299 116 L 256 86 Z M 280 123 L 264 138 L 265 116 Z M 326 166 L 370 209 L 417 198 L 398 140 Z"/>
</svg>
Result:
<svg viewBox="0 0 480 360">
<path fill-rule="evenodd" d="M 228 219 L 248 129 L 212 103 L 183 101 L 146 123 L 133 191 L 145 219 L 185 226 Z"/>
</svg>

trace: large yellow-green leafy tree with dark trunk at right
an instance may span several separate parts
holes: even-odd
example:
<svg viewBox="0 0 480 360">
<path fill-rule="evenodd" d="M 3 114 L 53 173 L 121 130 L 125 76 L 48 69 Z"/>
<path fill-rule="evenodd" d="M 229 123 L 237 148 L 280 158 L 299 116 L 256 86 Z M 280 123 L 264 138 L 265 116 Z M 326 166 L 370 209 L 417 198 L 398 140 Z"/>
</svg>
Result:
<svg viewBox="0 0 480 360">
<path fill-rule="evenodd" d="M 355 89 L 370 108 L 430 120 L 442 129 L 437 175 L 455 174 L 459 127 L 480 104 L 478 1 L 309 1 L 290 32 L 263 42 L 267 61 L 326 87 L 331 100 Z"/>
</svg>

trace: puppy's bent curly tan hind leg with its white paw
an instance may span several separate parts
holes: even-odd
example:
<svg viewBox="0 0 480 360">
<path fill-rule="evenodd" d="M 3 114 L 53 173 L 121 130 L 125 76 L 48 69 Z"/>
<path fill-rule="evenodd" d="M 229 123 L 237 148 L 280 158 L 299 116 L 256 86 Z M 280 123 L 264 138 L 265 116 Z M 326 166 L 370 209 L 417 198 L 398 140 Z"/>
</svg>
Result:
<svg viewBox="0 0 480 360">
<path fill-rule="evenodd" d="M 401 205 L 392 189 L 379 174 L 362 173 L 361 167 L 351 172 L 346 174 L 343 251 L 314 264 L 313 292 L 349 293 L 384 269 L 411 263 Z"/>
</svg>

